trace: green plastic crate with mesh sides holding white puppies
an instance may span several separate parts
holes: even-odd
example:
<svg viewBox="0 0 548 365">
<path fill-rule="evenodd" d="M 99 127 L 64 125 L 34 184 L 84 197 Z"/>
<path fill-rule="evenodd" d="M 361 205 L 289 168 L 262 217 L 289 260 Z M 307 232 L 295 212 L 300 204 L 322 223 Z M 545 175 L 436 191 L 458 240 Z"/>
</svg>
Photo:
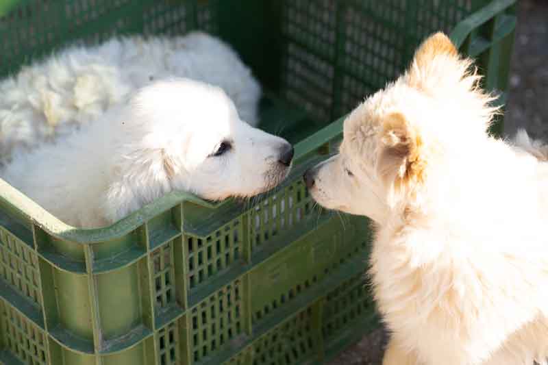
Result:
<svg viewBox="0 0 548 365">
<path fill-rule="evenodd" d="M 3 0 L 0 75 L 62 45 L 205 29 L 266 90 L 261 125 L 293 142 L 269 194 L 173 192 L 104 229 L 74 229 L 0 180 L 0 363 L 316 364 L 377 325 L 365 218 L 321 212 L 301 181 L 343 116 L 443 29 L 508 82 L 516 0 Z M 496 130 L 495 130 L 496 131 Z"/>
</svg>

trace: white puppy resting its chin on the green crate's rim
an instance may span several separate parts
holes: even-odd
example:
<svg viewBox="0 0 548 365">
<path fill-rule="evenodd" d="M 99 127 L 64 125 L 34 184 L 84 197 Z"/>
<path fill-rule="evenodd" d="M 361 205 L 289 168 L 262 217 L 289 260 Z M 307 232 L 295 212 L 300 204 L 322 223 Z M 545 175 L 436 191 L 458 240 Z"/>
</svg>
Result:
<svg viewBox="0 0 548 365">
<path fill-rule="evenodd" d="M 81 131 L 14 153 L 1 173 L 65 223 L 100 227 L 171 190 L 218 200 L 282 181 L 291 145 L 240 120 L 221 88 L 155 81 Z"/>
</svg>

